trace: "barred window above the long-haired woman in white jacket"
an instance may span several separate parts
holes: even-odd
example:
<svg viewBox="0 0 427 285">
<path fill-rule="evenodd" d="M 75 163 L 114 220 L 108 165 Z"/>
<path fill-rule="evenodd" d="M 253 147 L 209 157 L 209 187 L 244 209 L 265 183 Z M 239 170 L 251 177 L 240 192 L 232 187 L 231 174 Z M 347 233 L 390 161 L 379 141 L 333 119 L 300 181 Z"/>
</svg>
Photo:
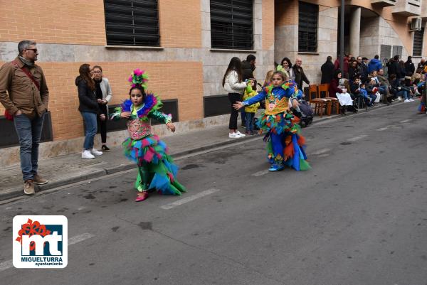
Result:
<svg viewBox="0 0 427 285">
<path fill-rule="evenodd" d="M 211 0 L 211 48 L 253 49 L 253 0 Z"/>
</svg>

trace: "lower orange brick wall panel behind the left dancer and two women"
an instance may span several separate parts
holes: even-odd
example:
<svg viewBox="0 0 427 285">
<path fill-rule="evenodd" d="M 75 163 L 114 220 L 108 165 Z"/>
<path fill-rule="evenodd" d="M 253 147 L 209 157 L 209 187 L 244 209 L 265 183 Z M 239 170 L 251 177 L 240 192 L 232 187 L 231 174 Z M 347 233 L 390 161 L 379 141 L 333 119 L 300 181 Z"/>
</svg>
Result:
<svg viewBox="0 0 427 285">
<path fill-rule="evenodd" d="M 0 63 L 1 65 L 3 63 Z M 83 136 L 83 122 L 78 112 L 75 77 L 82 63 L 40 63 L 48 82 L 52 115 L 53 139 L 73 139 Z M 91 65 L 99 63 L 90 63 Z M 203 118 L 203 71 L 196 62 L 161 63 L 100 63 L 105 77 L 110 80 L 113 98 L 111 104 L 127 99 L 130 85 L 127 78 L 136 68 L 147 70 L 148 90 L 162 99 L 178 99 L 179 120 Z M 0 107 L 3 114 L 4 108 Z"/>
</svg>

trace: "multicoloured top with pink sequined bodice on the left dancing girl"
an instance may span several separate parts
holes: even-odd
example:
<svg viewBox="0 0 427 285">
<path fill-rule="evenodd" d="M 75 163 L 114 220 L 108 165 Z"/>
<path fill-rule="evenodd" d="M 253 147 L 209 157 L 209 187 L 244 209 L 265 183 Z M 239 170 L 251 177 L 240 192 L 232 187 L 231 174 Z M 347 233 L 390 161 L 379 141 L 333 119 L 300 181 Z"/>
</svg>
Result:
<svg viewBox="0 0 427 285">
<path fill-rule="evenodd" d="M 164 124 L 172 122 L 171 114 L 159 112 L 161 107 L 162 102 L 159 97 L 149 93 L 145 96 L 145 100 L 139 109 L 135 109 L 131 100 L 125 100 L 121 107 L 115 108 L 111 119 L 120 119 L 120 113 L 131 112 L 129 119 L 127 119 L 127 130 L 131 139 L 138 140 L 151 134 L 150 118 L 157 119 Z"/>
</svg>

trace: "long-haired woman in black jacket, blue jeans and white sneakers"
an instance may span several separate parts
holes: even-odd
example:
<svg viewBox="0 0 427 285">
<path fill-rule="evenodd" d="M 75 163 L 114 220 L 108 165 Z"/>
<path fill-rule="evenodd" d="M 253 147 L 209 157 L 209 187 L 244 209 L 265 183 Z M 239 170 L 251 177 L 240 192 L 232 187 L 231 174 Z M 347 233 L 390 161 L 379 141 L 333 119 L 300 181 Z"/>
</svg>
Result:
<svg viewBox="0 0 427 285">
<path fill-rule="evenodd" d="M 78 69 L 80 75 L 75 78 L 75 85 L 78 90 L 78 110 L 82 114 L 85 122 L 85 142 L 83 143 L 82 158 L 91 159 L 102 155 L 101 151 L 93 149 L 93 139 L 97 131 L 97 116 L 105 120 L 105 114 L 101 114 L 95 96 L 95 82 L 91 77 L 90 65 L 84 63 Z M 95 156 L 94 156 L 95 155 Z"/>
</svg>

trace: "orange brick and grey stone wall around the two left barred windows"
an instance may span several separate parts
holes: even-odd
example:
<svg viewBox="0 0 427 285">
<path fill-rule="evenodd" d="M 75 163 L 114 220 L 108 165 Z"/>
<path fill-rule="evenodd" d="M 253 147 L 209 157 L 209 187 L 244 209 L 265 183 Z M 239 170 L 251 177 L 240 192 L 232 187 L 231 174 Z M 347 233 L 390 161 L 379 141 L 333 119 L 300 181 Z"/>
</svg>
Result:
<svg viewBox="0 0 427 285">
<path fill-rule="evenodd" d="M 209 0 L 159 0 L 160 47 L 111 47 L 106 44 L 102 0 L 40 0 L 36 9 L 22 9 L 21 1 L 0 0 L 0 65 L 16 57 L 19 41 L 38 43 L 53 127 L 53 141 L 41 146 L 42 158 L 77 152 L 83 145 L 74 84 L 82 63 L 102 66 L 112 85 L 111 104 L 128 97 L 127 77 L 133 69 L 147 70 L 149 90 L 162 99 L 178 100 L 177 130 L 201 129 L 228 121 L 228 115 L 204 118 L 203 97 L 226 95 L 221 82 L 233 56 L 243 60 L 255 55 L 260 82 L 273 69 L 274 9 L 274 0 L 253 1 L 253 50 L 211 48 Z M 164 134 L 164 127 L 154 129 Z M 107 141 L 119 144 L 125 135 L 111 132 Z M 17 154 L 17 147 L 0 149 L 0 166 L 17 162 Z"/>
</svg>

